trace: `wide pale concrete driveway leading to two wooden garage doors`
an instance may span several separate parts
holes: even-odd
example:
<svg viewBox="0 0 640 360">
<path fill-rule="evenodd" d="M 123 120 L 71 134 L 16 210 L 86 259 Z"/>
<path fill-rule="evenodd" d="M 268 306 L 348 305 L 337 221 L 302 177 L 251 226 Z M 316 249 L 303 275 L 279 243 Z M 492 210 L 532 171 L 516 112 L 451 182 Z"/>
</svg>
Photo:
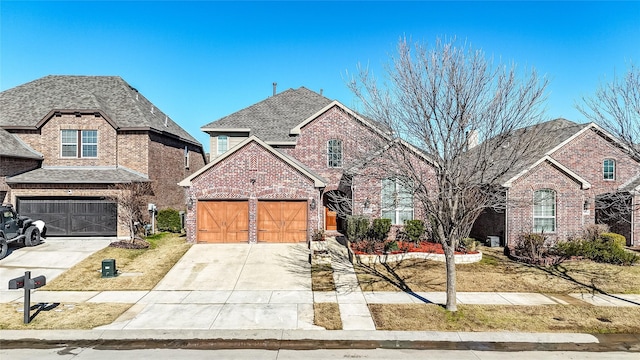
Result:
<svg viewBox="0 0 640 360">
<path fill-rule="evenodd" d="M 195 244 L 100 329 L 316 329 L 308 254 L 305 244 Z"/>
</svg>

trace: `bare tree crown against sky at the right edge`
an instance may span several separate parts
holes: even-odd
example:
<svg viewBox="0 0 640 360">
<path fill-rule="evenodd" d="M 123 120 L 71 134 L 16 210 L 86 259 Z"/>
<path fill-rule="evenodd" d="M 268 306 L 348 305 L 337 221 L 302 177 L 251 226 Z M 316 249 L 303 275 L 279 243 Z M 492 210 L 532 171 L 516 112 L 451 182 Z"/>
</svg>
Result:
<svg viewBox="0 0 640 360">
<path fill-rule="evenodd" d="M 592 97 L 583 97 L 578 110 L 620 139 L 640 159 L 640 69 L 631 65 L 623 77 L 601 85 Z"/>
</svg>

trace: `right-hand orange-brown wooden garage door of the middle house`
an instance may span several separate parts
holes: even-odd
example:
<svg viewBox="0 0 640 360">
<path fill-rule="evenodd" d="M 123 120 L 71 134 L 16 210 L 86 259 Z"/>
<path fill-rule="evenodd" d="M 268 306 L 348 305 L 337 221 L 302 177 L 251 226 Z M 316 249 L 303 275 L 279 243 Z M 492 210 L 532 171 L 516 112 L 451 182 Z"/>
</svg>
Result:
<svg viewBox="0 0 640 360">
<path fill-rule="evenodd" d="M 306 240 L 306 201 L 258 201 L 258 241 Z"/>
</svg>

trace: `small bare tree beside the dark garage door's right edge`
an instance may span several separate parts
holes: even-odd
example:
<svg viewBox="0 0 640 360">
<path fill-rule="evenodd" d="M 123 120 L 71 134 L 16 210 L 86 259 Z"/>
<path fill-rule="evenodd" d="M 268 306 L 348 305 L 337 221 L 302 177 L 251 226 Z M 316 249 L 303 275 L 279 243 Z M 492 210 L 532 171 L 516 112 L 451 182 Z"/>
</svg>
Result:
<svg viewBox="0 0 640 360">
<path fill-rule="evenodd" d="M 118 204 L 118 220 L 127 224 L 130 240 L 138 235 L 140 225 L 144 223 L 147 200 L 153 195 L 151 182 L 133 181 L 120 183 L 112 187 L 117 195 L 111 197 Z"/>
</svg>

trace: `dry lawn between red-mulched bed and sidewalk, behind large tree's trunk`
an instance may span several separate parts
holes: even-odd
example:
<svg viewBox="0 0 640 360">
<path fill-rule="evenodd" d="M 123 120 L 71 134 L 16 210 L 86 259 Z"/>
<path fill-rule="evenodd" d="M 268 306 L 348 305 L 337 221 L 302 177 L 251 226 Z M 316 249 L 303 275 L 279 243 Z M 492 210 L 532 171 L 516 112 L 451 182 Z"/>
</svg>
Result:
<svg viewBox="0 0 640 360">
<path fill-rule="evenodd" d="M 640 293 L 640 266 L 615 266 L 592 261 L 565 262 L 538 267 L 508 259 L 496 248 L 481 248 L 483 259 L 456 266 L 457 291 Z M 363 290 L 445 291 L 445 265 L 406 260 L 385 265 L 355 267 Z"/>
</svg>

